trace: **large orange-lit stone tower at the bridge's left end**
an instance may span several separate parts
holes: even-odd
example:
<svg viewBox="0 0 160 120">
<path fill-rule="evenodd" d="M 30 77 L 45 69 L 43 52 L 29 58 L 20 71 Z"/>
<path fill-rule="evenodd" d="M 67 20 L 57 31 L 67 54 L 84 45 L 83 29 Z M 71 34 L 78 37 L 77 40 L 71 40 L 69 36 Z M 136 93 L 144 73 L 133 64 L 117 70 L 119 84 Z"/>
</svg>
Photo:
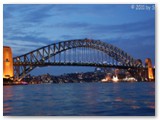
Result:
<svg viewBox="0 0 160 120">
<path fill-rule="evenodd" d="M 13 78 L 13 76 L 12 50 L 8 46 L 3 46 L 3 78 Z"/>
</svg>

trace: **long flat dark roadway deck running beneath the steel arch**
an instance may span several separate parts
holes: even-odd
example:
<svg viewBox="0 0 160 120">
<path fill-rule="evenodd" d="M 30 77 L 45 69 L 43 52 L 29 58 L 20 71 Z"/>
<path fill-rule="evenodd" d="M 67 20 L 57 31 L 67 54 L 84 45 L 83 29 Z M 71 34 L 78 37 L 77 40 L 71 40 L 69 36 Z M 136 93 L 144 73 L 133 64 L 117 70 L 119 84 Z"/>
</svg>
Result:
<svg viewBox="0 0 160 120">
<path fill-rule="evenodd" d="M 143 66 L 129 66 L 129 65 L 111 65 L 106 63 L 84 63 L 84 62 L 14 62 L 14 66 L 34 66 L 34 67 L 45 67 L 45 66 L 88 66 L 88 67 L 108 67 L 108 68 L 119 68 L 119 69 L 147 69 Z"/>
</svg>

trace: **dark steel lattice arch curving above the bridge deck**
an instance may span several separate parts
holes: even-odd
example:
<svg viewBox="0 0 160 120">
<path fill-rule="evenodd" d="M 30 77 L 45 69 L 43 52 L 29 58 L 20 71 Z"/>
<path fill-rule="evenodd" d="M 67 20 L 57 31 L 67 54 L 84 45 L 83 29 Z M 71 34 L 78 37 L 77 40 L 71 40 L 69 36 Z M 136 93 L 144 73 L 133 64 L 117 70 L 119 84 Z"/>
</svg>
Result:
<svg viewBox="0 0 160 120">
<path fill-rule="evenodd" d="M 96 49 L 106 53 L 108 56 L 114 58 L 116 61 L 122 63 L 119 67 L 133 67 L 135 59 L 129 54 L 121 50 L 120 48 L 113 46 L 111 44 L 102 42 L 100 40 L 90 40 L 90 39 L 77 39 L 61 41 L 58 43 L 53 43 L 34 51 L 28 52 L 24 55 L 14 57 L 14 76 L 17 79 L 23 78 L 27 73 L 33 70 L 37 66 L 45 65 L 71 65 L 71 66 L 104 66 L 104 67 L 117 67 L 115 65 L 106 64 L 91 64 L 91 63 L 46 63 L 45 60 L 60 54 L 63 51 L 78 48 L 78 47 L 88 47 Z"/>
</svg>

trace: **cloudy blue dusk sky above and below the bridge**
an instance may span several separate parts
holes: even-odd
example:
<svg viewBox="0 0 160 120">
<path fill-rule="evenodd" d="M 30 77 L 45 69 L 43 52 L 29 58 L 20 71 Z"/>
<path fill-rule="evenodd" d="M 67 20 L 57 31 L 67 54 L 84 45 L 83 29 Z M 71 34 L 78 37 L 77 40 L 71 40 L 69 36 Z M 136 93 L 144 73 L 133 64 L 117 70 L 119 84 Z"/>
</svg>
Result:
<svg viewBox="0 0 160 120">
<path fill-rule="evenodd" d="M 14 57 L 54 42 L 90 38 L 155 64 L 154 5 L 138 9 L 135 4 L 5 4 L 3 10 L 3 45 L 12 48 Z M 50 66 L 31 74 L 89 70 L 93 68 Z"/>
</svg>

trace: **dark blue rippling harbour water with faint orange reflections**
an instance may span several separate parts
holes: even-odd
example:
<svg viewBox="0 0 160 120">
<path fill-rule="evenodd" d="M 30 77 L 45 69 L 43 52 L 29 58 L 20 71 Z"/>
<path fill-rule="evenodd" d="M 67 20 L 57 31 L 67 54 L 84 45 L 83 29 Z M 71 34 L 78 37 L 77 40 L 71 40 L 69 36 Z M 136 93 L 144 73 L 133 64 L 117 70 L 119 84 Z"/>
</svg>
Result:
<svg viewBox="0 0 160 120">
<path fill-rule="evenodd" d="M 155 83 L 4 86 L 5 116 L 154 116 Z"/>
</svg>

